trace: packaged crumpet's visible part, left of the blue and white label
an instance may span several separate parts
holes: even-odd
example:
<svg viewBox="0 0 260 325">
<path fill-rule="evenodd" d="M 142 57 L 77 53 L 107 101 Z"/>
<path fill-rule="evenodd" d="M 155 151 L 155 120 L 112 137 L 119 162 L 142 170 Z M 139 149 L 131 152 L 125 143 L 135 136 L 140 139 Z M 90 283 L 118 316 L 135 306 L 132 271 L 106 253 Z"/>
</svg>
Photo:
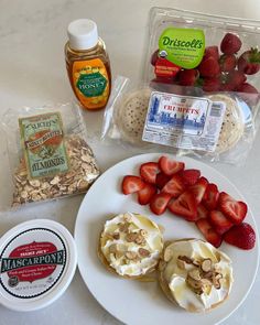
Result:
<svg viewBox="0 0 260 325">
<path fill-rule="evenodd" d="M 120 137 L 131 143 L 141 143 L 151 90 L 140 89 L 122 97 L 115 107 L 115 123 Z"/>
</svg>

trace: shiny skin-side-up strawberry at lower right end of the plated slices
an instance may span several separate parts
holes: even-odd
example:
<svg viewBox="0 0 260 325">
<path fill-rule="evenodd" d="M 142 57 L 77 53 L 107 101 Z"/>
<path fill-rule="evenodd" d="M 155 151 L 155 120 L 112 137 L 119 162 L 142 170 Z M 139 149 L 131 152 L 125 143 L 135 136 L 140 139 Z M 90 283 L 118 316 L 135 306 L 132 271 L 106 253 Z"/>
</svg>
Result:
<svg viewBox="0 0 260 325">
<path fill-rule="evenodd" d="M 256 232 L 249 224 L 242 223 L 229 229 L 224 240 L 241 249 L 251 249 L 256 243 Z"/>
</svg>

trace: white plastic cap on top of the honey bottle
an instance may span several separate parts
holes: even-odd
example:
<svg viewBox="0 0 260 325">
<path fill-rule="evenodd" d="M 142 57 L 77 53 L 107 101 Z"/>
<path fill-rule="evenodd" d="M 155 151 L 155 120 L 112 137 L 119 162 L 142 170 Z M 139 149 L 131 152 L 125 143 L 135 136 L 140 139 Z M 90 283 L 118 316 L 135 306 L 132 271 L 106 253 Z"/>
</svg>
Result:
<svg viewBox="0 0 260 325">
<path fill-rule="evenodd" d="M 89 19 L 78 19 L 67 28 L 69 46 L 74 50 L 89 50 L 98 43 L 97 24 Z"/>
</svg>

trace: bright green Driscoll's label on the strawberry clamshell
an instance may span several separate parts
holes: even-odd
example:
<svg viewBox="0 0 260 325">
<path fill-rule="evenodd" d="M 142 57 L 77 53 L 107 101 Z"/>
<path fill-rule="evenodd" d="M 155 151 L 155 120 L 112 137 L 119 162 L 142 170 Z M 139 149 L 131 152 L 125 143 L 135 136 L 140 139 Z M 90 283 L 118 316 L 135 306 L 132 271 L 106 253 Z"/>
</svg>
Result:
<svg viewBox="0 0 260 325">
<path fill-rule="evenodd" d="M 194 68 L 203 59 L 205 35 L 203 30 L 169 28 L 159 39 L 159 50 L 170 62 Z"/>
</svg>

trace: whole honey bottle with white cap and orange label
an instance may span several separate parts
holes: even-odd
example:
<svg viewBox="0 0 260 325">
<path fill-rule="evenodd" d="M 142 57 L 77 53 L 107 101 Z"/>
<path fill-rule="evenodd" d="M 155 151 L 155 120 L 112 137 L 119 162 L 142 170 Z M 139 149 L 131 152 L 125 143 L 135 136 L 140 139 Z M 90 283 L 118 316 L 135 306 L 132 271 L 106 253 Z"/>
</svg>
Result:
<svg viewBox="0 0 260 325">
<path fill-rule="evenodd" d="M 73 91 L 88 110 L 106 107 L 111 87 L 109 56 L 97 25 L 88 19 L 69 23 L 65 57 Z"/>
</svg>

